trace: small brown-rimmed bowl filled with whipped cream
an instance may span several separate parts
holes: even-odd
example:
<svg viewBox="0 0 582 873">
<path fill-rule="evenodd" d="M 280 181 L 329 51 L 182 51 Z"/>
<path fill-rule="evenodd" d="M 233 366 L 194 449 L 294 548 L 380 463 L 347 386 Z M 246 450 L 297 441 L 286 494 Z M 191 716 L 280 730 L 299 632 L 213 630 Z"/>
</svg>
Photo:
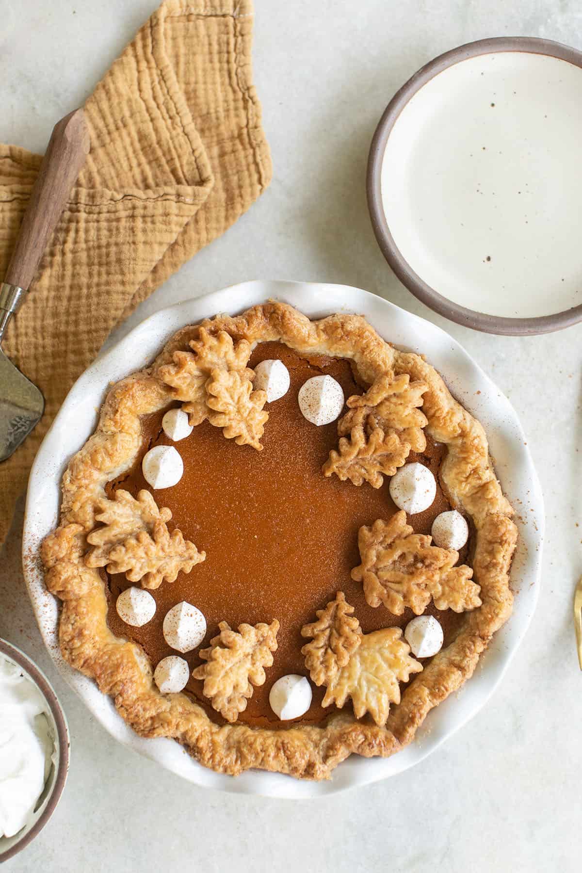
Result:
<svg viewBox="0 0 582 873">
<path fill-rule="evenodd" d="M 0 640 L 0 863 L 44 828 L 69 770 L 57 695 L 24 652 Z"/>
</svg>

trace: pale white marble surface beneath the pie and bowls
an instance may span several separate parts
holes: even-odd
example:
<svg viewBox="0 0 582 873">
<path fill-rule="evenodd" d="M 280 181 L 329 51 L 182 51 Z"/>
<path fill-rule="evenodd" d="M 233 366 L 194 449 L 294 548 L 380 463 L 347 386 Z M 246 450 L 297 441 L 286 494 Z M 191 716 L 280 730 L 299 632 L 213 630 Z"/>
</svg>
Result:
<svg viewBox="0 0 582 873">
<path fill-rule="evenodd" d="M 49 825 L 3 869 L 579 870 L 582 675 L 571 601 L 582 573 L 582 327 L 519 340 L 449 325 L 388 270 L 364 192 L 375 124 L 417 67 L 488 36 L 581 46 L 578 4 L 256 3 L 255 79 L 274 180 L 131 323 L 246 278 L 305 278 L 358 285 L 441 324 L 509 395 L 529 435 L 548 519 L 537 615 L 490 704 L 414 770 L 325 801 L 209 793 L 117 745 L 58 677 L 24 591 L 20 512 L 3 555 L 0 636 L 54 682 L 71 725 L 72 769 Z M 0 138 L 44 148 L 54 121 L 84 99 L 155 5 L 0 0 Z"/>
</svg>

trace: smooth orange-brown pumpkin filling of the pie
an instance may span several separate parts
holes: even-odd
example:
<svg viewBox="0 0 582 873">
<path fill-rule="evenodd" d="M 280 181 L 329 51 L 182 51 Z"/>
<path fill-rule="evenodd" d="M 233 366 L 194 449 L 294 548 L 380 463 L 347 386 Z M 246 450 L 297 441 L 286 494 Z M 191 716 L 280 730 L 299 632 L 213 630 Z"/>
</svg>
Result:
<svg viewBox="0 0 582 873">
<path fill-rule="evenodd" d="M 163 409 L 142 417 L 143 442 L 134 467 L 106 488 L 108 497 L 118 488 L 134 497 L 142 489 L 152 492 L 157 505 L 167 506 L 172 512 L 169 531 L 179 528 L 187 540 L 206 553 L 206 560 L 196 564 L 190 573 L 180 573 L 175 582 L 164 581 L 150 592 L 156 611 L 153 619 L 140 628 L 129 627 L 115 608 L 120 592 L 132 583 L 124 574 L 102 571 L 107 578 L 110 629 L 116 636 L 140 643 L 153 668 L 161 658 L 177 654 L 164 639 L 162 622 L 168 610 L 180 601 L 200 609 L 207 621 L 201 646 L 181 655 L 190 670 L 202 663 L 198 653 L 218 633 L 218 622 L 228 622 L 237 629 L 243 622 L 255 625 L 277 619 L 280 628 L 273 665 L 266 669 L 266 681 L 253 689 L 246 709 L 237 719 L 238 723 L 262 727 L 291 724 L 289 720 L 278 720 L 270 708 L 270 688 L 277 678 L 287 674 L 309 678 L 301 654 L 306 641 L 300 631 L 315 620 L 316 610 L 332 601 L 336 592 L 345 593 L 364 633 L 404 628 L 414 618 L 409 608 L 403 615 L 393 615 L 383 605 L 368 606 L 361 582 L 351 577 L 353 567 L 360 563 L 359 528 L 372 525 L 376 519 L 390 519 L 397 512 L 388 491 L 389 478 L 377 489 L 367 482 L 356 487 L 336 476 L 325 478 L 321 468 L 330 450 L 338 445 L 338 423 L 316 426 L 298 407 L 299 388 L 312 376 L 331 375 L 343 388 L 346 399 L 363 394 L 366 386 L 359 384 L 349 361 L 323 355 L 302 357 L 278 342 L 259 343 L 249 367 L 270 359 L 283 361 L 291 376 L 291 387 L 266 407 L 269 421 L 261 441 L 264 450 L 236 445 L 208 421 L 196 426 L 190 436 L 172 443 L 161 428 L 167 411 Z M 141 460 L 147 450 L 158 445 L 175 446 L 184 472 L 177 485 L 152 491 L 143 478 Z M 416 533 L 430 533 L 436 516 L 450 509 L 439 478 L 444 451 L 444 446 L 427 436 L 425 452 L 411 453 L 407 458 L 407 463 L 427 466 L 437 483 L 435 501 L 429 509 L 407 517 Z M 467 552 L 467 547 L 461 550 L 459 564 Z M 445 646 L 454 640 L 462 615 L 451 609 L 436 609 L 432 602 L 425 615 L 435 615 L 442 624 Z M 190 677 L 185 693 L 203 707 L 209 718 L 223 724 L 222 716 L 202 694 L 202 685 L 202 681 Z M 333 706 L 321 705 L 325 687 L 312 683 L 312 691 L 310 709 L 296 719 L 303 724 L 321 724 L 335 711 Z"/>
</svg>

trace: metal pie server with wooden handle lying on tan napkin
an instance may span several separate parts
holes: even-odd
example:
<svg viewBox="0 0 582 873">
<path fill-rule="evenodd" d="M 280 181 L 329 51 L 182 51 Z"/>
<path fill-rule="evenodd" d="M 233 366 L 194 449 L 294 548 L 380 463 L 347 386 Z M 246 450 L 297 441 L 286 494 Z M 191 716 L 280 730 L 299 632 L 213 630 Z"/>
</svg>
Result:
<svg viewBox="0 0 582 873">
<path fill-rule="evenodd" d="M 42 392 L 6 357 L 2 340 L 12 315 L 26 297 L 90 145 L 82 109 L 66 115 L 55 126 L 0 285 L 0 461 L 17 450 L 45 410 Z"/>
</svg>

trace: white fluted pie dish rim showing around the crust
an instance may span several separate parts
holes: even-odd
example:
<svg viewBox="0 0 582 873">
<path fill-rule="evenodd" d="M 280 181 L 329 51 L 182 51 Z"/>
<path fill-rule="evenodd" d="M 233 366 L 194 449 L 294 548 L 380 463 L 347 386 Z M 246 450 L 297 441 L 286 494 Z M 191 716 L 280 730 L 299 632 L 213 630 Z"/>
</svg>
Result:
<svg viewBox="0 0 582 873">
<path fill-rule="evenodd" d="M 60 655 L 58 602 L 45 589 L 38 560 L 42 540 L 58 522 L 60 479 L 65 466 L 92 434 L 109 383 L 146 366 L 179 328 L 216 313 L 239 313 L 268 298 L 297 306 L 312 319 L 335 312 L 360 313 L 387 340 L 425 354 L 442 373 L 455 397 L 483 423 L 503 491 L 514 505 L 522 508 L 517 518 L 520 540 L 511 573 L 512 588 L 517 592 L 515 608 L 510 621 L 496 634 L 483 655 L 482 669 L 458 695 L 451 696 L 428 715 L 412 745 L 387 759 L 363 759 L 352 755 L 335 770 L 331 780 L 323 782 L 294 780 L 280 773 L 258 771 L 243 773 L 235 779 L 201 766 L 173 740 L 139 737 L 115 711 L 111 699 L 102 694 L 91 680 L 72 670 Z M 358 288 L 256 281 L 225 288 L 155 313 L 95 361 L 73 385 L 31 471 L 24 521 L 23 545 L 27 556 L 24 574 L 38 625 L 58 670 L 113 737 L 196 785 L 242 794 L 318 797 L 401 773 L 434 752 L 444 739 L 481 709 L 503 677 L 531 621 L 539 588 L 543 530 L 542 493 L 516 412 L 448 333 Z"/>
</svg>

